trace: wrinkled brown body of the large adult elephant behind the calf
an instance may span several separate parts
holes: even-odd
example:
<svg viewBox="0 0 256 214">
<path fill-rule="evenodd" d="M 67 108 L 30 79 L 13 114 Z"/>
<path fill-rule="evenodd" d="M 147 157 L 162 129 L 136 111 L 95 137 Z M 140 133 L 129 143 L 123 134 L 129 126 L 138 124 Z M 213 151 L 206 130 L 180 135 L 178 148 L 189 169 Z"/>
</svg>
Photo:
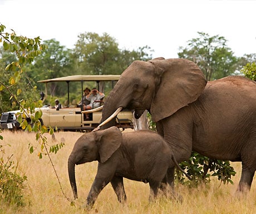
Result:
<svg viewBox="0 0 256 214">
<path fill-rule="evenodd" d="M 135 61 L 122 74 L 102 110 L 148 110 L 178 162 L 191 150 L 209 158 L 242 161 L 238 191 L 249 190 L 256 169 L 256 83 L 241 76 L 206 82 L 186 59 Z M 112 120 L 101 129 L 114 126 Z M 172 184 L 174 168 L 169 170 Z"/>
</svg>

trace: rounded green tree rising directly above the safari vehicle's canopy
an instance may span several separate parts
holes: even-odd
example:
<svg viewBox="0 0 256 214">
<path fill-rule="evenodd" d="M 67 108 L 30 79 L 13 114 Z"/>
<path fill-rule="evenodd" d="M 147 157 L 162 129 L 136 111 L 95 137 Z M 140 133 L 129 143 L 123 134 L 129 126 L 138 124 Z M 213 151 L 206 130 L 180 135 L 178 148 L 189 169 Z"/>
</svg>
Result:
<svg viewBox="0 0 256 214">
<path fill-rule="evenodd" d="M 150 47 L 139 47 L 137 51 L 119 49 L 116 39 L 103 33 L 81 33 L 73 49 L 72 57 L 75 69 L 80 74 L 121 74 L 136 59 L 148 60 L 152 51 Z M 101 83 L 100 91 L 111 86 Z M 103 91 L 102 91 L 103 92 Z"/>
</svg>

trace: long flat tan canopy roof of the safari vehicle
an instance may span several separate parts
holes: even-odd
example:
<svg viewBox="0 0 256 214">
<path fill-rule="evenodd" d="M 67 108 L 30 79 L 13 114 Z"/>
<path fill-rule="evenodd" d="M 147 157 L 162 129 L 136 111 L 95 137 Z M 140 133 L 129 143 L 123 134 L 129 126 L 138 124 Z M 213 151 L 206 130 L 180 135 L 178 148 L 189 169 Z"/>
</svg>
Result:
<svg viewBox="0 0 256 214">
<path fill-rule="evenodd" d="M 111 81 L 119 80 L 120 75 L 72 75 L 66 77 L 58 77 L 53 79 L 45 79 L 37 82 L 71 82 L 71 81 Z"/>
</svg>

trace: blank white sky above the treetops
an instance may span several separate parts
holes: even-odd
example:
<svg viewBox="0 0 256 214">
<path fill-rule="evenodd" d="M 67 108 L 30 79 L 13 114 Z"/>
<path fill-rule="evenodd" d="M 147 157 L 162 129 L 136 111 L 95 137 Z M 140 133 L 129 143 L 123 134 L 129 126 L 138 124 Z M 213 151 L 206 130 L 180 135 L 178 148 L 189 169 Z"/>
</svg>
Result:
<svg viewBox="0 0 256 214">
<path fill-rule="evenodd" d="M 256 0 L 0 0 L 0 23 L 17 34 L 73 48 L 80 33 L 106 32 L 119 48 L 165 58 L 197 32 L 224 36 L 235 56 L 256 53 L 255 14 Z"/>
</svg>

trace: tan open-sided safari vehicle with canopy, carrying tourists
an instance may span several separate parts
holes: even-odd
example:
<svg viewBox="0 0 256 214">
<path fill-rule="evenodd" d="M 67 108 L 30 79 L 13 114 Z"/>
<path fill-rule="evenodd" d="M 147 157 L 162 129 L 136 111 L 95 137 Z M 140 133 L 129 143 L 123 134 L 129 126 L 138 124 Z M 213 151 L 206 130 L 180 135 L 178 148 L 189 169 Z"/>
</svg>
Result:
<svg viewBox="0 0 256 214">
<path fill-rule="evenodd" d="M 82 112 L 81 107 L 78 105 L 70 104 L 70 83 L 81 83 L 81 96 L 83 94 L 83 87 L 85 82 L 95 82 L 99 90 L 100 82 L 110 81 L 112 88 L 118 81 L 120 75 L 74 75 L 53 79 L 45 79 L 38 81 L 45 83 L 45 97 L 47 98 L 47 84 L 51 82 L 66 82 L 67 84 L 67 106 L 56 109 L 52 106 L 45 105 L 41 107 L 42 117 L 41 123 L 46 127 L 57 128 L 57 130 L 66 131 L 91 131 L 96 128 L 101 122 L 101 108 L 96 112 L 90 113 L 90 119 L 86 120 L 85 113 Z M 104 100 L 101 101 L 104 104 Z M 2 113 L 0 125 L 2 129 L 17 130 L 19 123 L 16 120 L 16 113 L 18 111 L 10 111 Z M 29 117 L 26 119 L 29 122 Z M 132 125 L 132 112 L 129 110 L 121 111 L 116 117 L 116 126 L 122 128 L 133 128 Z"/>
</svg>

